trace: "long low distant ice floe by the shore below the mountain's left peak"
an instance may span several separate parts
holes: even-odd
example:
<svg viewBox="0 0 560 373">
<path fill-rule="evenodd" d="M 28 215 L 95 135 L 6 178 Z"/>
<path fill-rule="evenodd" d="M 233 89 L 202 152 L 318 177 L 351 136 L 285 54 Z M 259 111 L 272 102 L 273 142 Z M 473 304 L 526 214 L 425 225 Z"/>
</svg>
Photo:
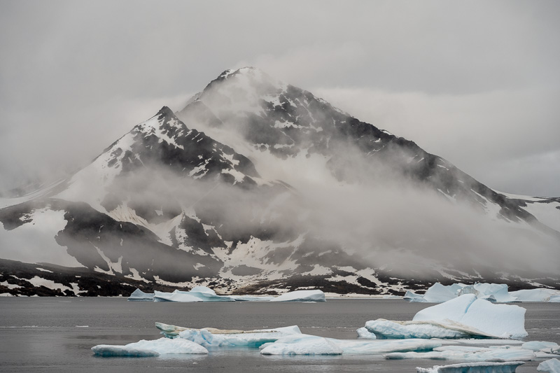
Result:
<svg viewBox="0 0 560 373">
<path fill-rule="evenodd" d="M 295 290 L 278 297 L 261 297 L 255 295 L 217 295 L 206 286 L 196 286 L 189 291 L 174 290 L 173 293 L 154 291 L 144 293 L 134 290 L 128 297 L 130 301 L 147 302 L 325 302 L 325 293 L 321 290 Z"/>
</svg>

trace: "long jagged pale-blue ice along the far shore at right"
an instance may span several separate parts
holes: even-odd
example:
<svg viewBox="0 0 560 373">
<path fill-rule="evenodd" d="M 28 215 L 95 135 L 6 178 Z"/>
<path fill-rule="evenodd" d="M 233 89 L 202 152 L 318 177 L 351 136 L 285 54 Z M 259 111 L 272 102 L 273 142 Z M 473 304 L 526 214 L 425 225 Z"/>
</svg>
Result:
<svg viewBox="0 0 560 373">
<path fill-rule="evenodd" d="M 554 289 L 537 288 L 517 291 L 507 291 L 505 283 L 475 283 L 465 285 L 454 283 L 442 285 L 434 283 L 425 294 L 416 294 L 408 290 L 405 300 L 410 302 L 440 303 L 447 302 L 461 295 L 472 294 L 479 299 L 496 303 L 507 302 L 560 302 L 560 291 Z"/>
</svg>

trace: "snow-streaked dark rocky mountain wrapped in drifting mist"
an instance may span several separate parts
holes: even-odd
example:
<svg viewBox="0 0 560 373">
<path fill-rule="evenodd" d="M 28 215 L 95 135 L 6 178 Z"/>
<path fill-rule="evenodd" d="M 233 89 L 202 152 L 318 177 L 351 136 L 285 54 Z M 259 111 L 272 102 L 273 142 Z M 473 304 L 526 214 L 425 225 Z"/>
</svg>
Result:
<svg viewBox="0 0 560 373">
<path fill-rule="evenodd" d="M 84 278 L 111 294 L 560 287 L 560 198 L 492 190 L 254 68 L 221 73 L 70 178 L 0 207 L 0 293 L 92 295 Z"/>
</svg>

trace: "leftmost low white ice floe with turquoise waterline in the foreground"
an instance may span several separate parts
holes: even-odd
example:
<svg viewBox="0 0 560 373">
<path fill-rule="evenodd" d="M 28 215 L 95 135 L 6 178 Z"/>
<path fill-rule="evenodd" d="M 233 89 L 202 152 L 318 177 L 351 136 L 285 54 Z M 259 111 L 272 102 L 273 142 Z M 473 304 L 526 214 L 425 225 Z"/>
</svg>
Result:
<svg viewBox="0 0 560 373">
<path fill-rule="evenodd" d="M 140 342 L 125 344 L 124 346 L 113 344 L 99 344 L 92 347 L 92 351 L 97 356 L 129 356 L 129 357 L 146 357 L 160 356 L 169 354 L 208 353 L 207 349 L 190 342 L 186 339 L 168 339 L 160 338 L 153 341 L 142 339 Z"/>
</svg>

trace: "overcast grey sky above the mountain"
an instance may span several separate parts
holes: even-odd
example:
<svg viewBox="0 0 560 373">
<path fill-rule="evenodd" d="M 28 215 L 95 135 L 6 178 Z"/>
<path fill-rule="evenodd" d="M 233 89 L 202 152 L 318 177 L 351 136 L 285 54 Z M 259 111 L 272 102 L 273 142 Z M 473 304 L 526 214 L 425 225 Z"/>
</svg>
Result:
<svg viewBox="0 0 560 373">
<path fill-rule="evenodd" d="M 0 2 L 0 189 L 251 65 L 491 188 L 560 196 L 559 1 Z"/>
</svg>

